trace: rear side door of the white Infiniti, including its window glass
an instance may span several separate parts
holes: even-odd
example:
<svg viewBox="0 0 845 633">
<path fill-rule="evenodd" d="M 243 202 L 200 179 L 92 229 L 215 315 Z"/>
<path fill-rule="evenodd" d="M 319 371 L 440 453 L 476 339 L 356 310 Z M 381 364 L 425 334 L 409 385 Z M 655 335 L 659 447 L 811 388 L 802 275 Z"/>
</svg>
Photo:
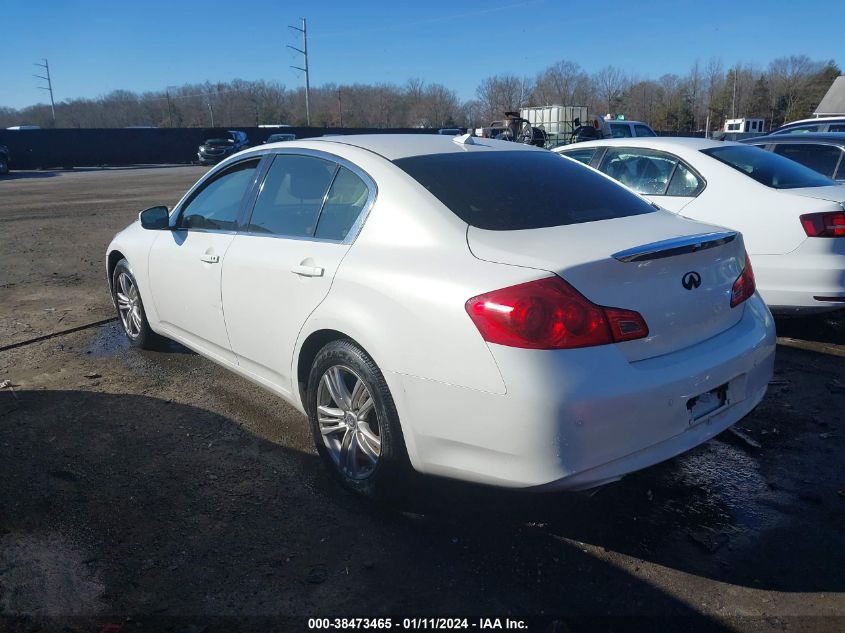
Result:
<svg viewBox="0 0 845 633">
<path fill-rule="evenodd" d="M 375 198 L 363 172 L 320 152 L 280 153 L 223 267 L 223 305 L 238 363 L 289 394 L 293 348 Z M 299 150 L 303 152 L 303 150 Z"/>
</svg>

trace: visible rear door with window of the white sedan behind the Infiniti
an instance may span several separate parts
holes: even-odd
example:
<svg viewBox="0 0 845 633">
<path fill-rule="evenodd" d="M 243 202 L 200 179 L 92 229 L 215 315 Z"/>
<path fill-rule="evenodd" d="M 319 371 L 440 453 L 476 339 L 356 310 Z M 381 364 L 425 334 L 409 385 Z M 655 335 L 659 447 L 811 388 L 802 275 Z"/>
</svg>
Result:
<svg viewBox="0 0 845 633">
<path fill-rule="evenodd" d="M 675 213 L 705 186 L 704 179 L 677 156 L 639 147 L 609 147 L 598 169 Z"/>
</svg>

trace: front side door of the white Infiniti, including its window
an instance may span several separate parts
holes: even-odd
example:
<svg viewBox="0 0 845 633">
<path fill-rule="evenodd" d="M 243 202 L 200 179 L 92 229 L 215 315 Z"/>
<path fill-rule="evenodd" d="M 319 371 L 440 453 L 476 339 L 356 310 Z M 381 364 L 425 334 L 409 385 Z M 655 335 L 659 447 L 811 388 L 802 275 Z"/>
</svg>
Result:
<svg viewBox="0 0 845 633">
<path fill-rule="evenodd" d="M 223 318 L 221 270 L 258 162 L 236 163 L 205 181 L 150 252 L 150 286 L 164 333 L 229 363 L 235 356 Z"/>
</svg>

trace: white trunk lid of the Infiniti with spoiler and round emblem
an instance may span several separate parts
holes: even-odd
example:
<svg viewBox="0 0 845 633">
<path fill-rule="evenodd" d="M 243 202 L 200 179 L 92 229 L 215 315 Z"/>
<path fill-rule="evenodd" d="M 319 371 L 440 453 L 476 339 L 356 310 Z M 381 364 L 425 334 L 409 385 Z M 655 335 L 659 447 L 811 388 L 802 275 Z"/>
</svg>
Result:
<svg viewBox="0 0 845 633">
<path fill-rule="evenodd" d="M 467 242 L 479 259 L 553 272 L 594 303 L 639 312 L 649 335 L 618 344 L 629 361 L 695 345 L 742 317 L 730 306 L 742 236 L 667 211 L 523 231 L 470 226 Z"/>
</svg>

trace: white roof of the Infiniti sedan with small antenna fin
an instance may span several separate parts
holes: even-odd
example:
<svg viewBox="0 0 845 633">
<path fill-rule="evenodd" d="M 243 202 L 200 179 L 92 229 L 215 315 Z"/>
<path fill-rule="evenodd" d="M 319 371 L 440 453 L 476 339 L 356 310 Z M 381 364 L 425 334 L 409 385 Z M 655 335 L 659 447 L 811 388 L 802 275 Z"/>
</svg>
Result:
<svg viewBox="0 0 845 633">
<path fill-rule="evenodd" d="M 456 142 L 462 136 L 444 136 L 442 134 L 350 134 L 347 136 L 316 137 L 297 139 L 279 144 L 280 148 L 292 149 L 303 147 L 331 151 L 333 145 L 358 147 L 378 154 L 388 160 L 399 160 L 411 156 L 429 154 L 449 154 L 475 151 L 545 151 L 523 143 L 497 141 L 489 138 L 471 137 L 471 144 Z M 272 143 L 263 148 L 271 148 Z"/>
</svg>

